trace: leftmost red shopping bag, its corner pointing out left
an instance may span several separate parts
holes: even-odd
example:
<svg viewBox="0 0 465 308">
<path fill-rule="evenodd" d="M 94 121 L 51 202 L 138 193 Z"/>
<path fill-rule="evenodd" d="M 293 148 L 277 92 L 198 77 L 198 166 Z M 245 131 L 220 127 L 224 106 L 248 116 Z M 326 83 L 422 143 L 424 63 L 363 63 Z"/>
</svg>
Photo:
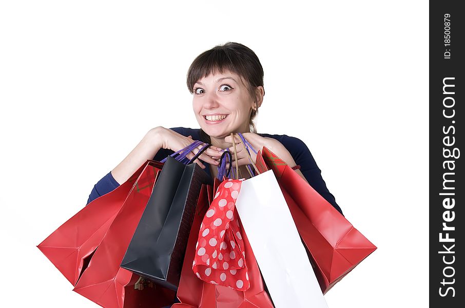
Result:
<svg viewBox="0 0 465 308">
<path fill-rule="evenodd" d="M 75 285 L 125 201 L 153 186 L 154 172 L 162 166 L 147 161 L 125 183 L 90 202 L 37 247 Z"/>
</svg>

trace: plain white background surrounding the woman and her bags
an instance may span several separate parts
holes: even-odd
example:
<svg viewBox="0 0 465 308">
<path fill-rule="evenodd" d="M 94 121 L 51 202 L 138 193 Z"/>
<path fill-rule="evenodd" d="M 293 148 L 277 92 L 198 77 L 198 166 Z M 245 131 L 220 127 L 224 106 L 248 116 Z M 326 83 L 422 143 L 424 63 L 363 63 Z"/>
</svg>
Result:
<svg viewBox="0 0 465 308">
<path fill-rule="evenodd" d="M 264 67 L 259 132 L 302 139 L 378 246 L 328 306 L 427 306 L 427 2 L 171 3 L 1 2 L 2 306 L 97 306 L 35 246 L 150 128 L 198 127 L 187 69 L 227 41 Z"/>
</svg>

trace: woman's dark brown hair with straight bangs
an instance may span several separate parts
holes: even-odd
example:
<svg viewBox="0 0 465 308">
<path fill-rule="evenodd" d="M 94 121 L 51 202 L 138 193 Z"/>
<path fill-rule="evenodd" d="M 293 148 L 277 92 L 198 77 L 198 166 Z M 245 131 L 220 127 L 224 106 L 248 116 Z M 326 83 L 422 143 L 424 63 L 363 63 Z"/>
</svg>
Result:
<svg viewBox="0 0 465 308">
<path fill-rule="evenodd" d="M 228 42 L 204 51 L 192 62 L 187 72 L 187 88 L 189 92 L 193 93 L 193 86 L 200 79 L 211 73 L 223 73 L 224 71 L 238 74 L 241 79 L 245 80 L 245 86 L 250 97 L 254 99 L 257 87 L 263 87 L 263 67 L 255 52 L 242 44 Z M 253 122 L 257 113 L 258 106 L 250 114 L 249 125 L 251 132 L 257 132 Z M 202 135 L 204 138 L 207 137 L 203 130 L 201 130 Z"/>
</svg>

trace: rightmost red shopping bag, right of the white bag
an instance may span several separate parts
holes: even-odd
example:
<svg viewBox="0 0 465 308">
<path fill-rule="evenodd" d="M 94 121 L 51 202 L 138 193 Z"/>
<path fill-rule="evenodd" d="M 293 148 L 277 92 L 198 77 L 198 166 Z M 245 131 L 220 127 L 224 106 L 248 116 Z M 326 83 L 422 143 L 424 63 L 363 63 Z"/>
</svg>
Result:
<svg viewBox="0 0 465 308">
<path fill-rule="evenodd" d="M 375 251 L 373 243 L 266 147 L 257 155 L 257 167 L 273 169 L 323 294 Z"/>
</svg>

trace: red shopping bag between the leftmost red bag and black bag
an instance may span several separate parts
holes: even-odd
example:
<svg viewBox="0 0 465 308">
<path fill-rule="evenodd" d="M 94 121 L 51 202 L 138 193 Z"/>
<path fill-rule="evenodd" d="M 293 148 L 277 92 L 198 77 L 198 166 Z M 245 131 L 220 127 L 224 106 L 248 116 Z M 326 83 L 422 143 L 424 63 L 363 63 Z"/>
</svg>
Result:
<svg viewBox="0 0 465 308">
<path fill-rule="evenodd" d="M 149 162 L 142 176 L 148 179 L 144 187 L 134 187 L 124 202 L 105 237 L 92 256 L 89 266 L 77 281 L 73 291 L 103 307 L 163 307 L 171 304 L 176 292 L 148 283 L 138 288 L 140 276 L 120 264 L 145 209 L 160 168 Z"/>
</svg>

